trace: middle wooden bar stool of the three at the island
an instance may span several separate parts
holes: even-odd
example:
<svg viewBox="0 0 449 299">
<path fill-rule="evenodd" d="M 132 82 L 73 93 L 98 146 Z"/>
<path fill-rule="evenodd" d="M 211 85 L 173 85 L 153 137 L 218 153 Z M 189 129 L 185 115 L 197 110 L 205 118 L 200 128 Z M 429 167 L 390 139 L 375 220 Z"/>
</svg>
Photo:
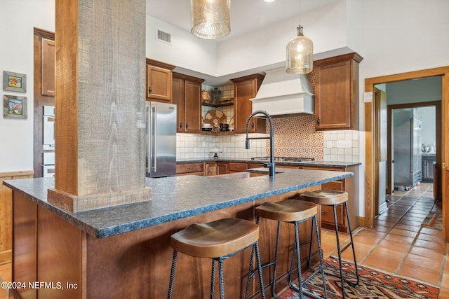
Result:
<svg viewBox="0 0 449 299">
<path fill-rule="evenodd" d="M 278 221 L 278 228 L 277 228 L 277 235 L 276 235 L 276 249 L 274 253 L 274 261 L 267 263 L 265 265 L 262 265 L 263 267 L 274 265 L 273 270 L 273 282 L 272 282 L 272 295 L 274 298 L 278 299 L 279 296 L 276 295 L 276 269 L 277 269 L 277 260 L 278 260 L 278 251 L 279 251 L 279 233 L 281 231 L 281 221 L 286 223 L 293 223 L 295 225 L 295 248 L 293 249 L 292 254 L 292 262 L 290 264 L 290 273 L 289 273 L 289 284 L 290 288 L 293 288 L 295 291 L 299 291 L 300 298 L 303 298 L 303 293 L 306 295 L 309 295 L 313 298 L 316 298 L 316 295 L 310 293 L 307 291 L 306 288 L 304 288 L 304 284 L 311 279 L 316 273 L 321 272 L 321 277 L 323 278 L 323 286 L 326 286 L 326 278 L 324 277 L 324 265 L 323 265 L 323 253 L 321 251 L 321 243 L 320 243 L 320 237 L 319 237 L 319 230 L 318 225 L 316 223 L 316 213 L 318 211 L 316 204 L 313 204 L 311 202 L 303 202 L 301 200 L 282 200 L 280 202 L 265 202 L 264 204 L 261 204 L 259 207 L 255 208 L 257 220 L 256 223 L 259 223 L 260 217 L 272 219 L 275 221 Z M 315 227 L 315 233 L 316 233 L 316 240 L 318 242 L 318 251 L 319 251 L 319 258 L 320 258 L 320 265 L 319 267 L 314 270 L 309 277 L 306 279 L 302 279 L 301 274 L 301 256 L 300 256 L 300 246 L 305 244 L 310 244 L 311 246 L 311 239 L 307 242 L 300 243 L 300 235 L 299 235 L 299 224 L 307 221 L 309 219 L 312 219 L 312 226 L 311 226 L 311 237 L 313 236 L 313 231 Z M 293 271 L 293 260 L 296 253 L 296 260 L 297 260 L 297 275 L 299 286 L 296 286 L 291 281 L 291 274 Z M 309 259 L 309 265 L 310 265 L 310 259 Z M 260 271 L 260 270 L 258 270 Z M 326 288 L 324 288 L 324 298 L 327 298 L 327 291 Z"/>
</svg>

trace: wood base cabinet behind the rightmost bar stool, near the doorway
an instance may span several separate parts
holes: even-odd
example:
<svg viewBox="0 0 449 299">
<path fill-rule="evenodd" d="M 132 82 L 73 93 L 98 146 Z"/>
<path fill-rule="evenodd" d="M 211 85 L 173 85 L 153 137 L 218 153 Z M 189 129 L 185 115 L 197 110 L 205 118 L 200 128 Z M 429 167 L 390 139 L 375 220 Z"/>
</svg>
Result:
<svg viewBox="0 0 449 299">
<path fill-rule="evenodd" d="M 335 172 L 353 172 L 354 176 L 338 181 L 331 181 L 329 183 L 321 184 L 321 189 L 345 191 L 348 193 L 348 209 L 349 220 L 351 221 L 351 229 L 357 228 L 358 221 L 358 166 L 349 168 L 334 168 L 334 167 L 301 167 L 302 169 L 317 169 L 330 170 Z M 337 210 L 337 224 L 340 232 L 349 232 L 346 213 L 344 206 L 336 207 Z M 321 227 L 328 230 L 335 230 L 333 207 L 321 206 Z"/>
</svg>

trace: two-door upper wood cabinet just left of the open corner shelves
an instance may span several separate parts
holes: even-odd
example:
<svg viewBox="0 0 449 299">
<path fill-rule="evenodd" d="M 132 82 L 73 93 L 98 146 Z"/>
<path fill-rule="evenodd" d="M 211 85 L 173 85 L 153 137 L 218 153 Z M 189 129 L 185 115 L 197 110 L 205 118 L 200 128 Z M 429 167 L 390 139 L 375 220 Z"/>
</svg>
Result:
<svg viewBox="0 0 449 299">
<path fill-rule="evenodd" d="M 203 79 L 173 73 L 173 104 L 177 106 L 178 133 L 201 133 L 201 83 Z"/>
</svg>

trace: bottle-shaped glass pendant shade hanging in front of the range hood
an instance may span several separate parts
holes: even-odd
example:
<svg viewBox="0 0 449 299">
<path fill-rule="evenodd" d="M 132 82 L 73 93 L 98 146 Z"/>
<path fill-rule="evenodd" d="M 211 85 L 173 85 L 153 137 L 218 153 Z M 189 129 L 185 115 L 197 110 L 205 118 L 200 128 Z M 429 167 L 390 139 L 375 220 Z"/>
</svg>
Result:
<svg viewBox="0 0 449 299">
<path fill-rule="evenodd" d="M 302 34 L 301 25 L 297 36 L 287 43 L 287 66 L 289 74 L 307 74 L 314 69 L 314 44 Z"/>
</svg>

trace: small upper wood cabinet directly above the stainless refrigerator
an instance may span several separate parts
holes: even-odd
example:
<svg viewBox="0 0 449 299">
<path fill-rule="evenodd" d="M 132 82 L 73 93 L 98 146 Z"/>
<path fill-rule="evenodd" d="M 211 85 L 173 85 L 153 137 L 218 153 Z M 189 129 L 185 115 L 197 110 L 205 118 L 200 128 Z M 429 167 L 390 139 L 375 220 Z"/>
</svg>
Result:
<svg viewBox="0 0 449 299">
<path fill-rule="evenodd" d="M 147 58 L 147 99 L 171 103 L 174 65 Z"/>
</svg>

